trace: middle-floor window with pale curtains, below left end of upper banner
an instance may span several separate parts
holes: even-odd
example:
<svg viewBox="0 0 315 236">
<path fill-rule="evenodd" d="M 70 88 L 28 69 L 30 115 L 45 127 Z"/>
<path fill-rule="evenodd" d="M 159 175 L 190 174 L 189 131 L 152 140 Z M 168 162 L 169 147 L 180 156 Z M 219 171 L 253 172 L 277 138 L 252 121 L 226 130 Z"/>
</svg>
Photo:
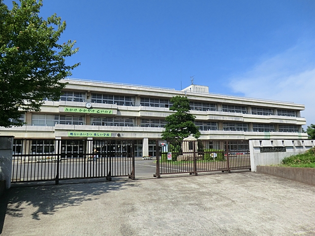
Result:
<svg viewBox="0 0 315 236">
<path fill-rule="evenodd" d="M 55 126 L 55 124 L 84 124 L 83 116 L 32 114 L 32 125 Z"/>
</svg>

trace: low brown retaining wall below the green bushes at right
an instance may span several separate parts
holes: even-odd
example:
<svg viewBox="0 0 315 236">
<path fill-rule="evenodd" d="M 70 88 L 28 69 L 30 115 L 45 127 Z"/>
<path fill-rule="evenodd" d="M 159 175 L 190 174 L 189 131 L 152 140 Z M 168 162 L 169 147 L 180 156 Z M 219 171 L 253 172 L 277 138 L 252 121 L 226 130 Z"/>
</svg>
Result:
<svg viewBox="0 0 315 236">
<path fill-rule="evenodd" d="M 257 166 L 257 172 L 315 186 L 315 168 Z"/>
</svg>

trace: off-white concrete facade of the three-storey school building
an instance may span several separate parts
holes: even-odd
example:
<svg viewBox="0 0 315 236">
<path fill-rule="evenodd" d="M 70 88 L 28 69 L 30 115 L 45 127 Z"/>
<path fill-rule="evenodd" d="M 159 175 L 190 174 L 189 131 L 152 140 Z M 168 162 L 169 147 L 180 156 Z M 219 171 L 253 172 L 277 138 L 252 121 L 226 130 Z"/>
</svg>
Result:
<svg viewBox="0 0 315 236">
<path fill-rule="evenodd" d="M 41 107 L 40 113 L 26 114 L 25 120 L 28 123 L 27 125 L 12 128 L 0 127 L 0 134 L 12 135 L 15 136 L 17 139 L 55 139 L 55 137 L 69 139 L 68 132 L 72 131 L 107 132 L 111 133 L 111 138 L 143 140 L 143 150 L 145 153 L 148 149 L 147 143 L 149 140 L 161 139 L 163 128 L 141 127 L 141 119 L 151 118 L 163 120 L 165 119 L 165 117 L 172 114 L 173 112 L 170 111 L 169 108 L 165 107 L 140 106 L 141 97 L 171 99 L 173 96 L 176 95 L 186 95 L 191 101 L 217 104 L 217 111 L 190 111 L 190 113 L 196 117 L 197 121 L 218 122 L 219 130 L 200 131 L 201 137 L 199 139 L 307 139 L 307 134 L 301 133 L 301 125 L 306 124 L 305 118 L 299 117 L 300 111 L 304 110 L 304 105 L 302 104 L 211 94 L 208 92 L 201 93 L 184 90 L 178 91 L 175 89 L 149 88 L 144 86 L 118 85 L 114 83 L 89 82 L 82 80 L 77 81 L 73 79 L 64 80 L 63 82 L 68 82 L 64 90 L 81 91 L 85 93 L 85 101 L 45 101 L 44 105 Z M 204 91 L 203 89 L 199 89 L 198 91 Z M 112 114 L 110 115 L 99 116 L 108 116 L 113 118 L 132 118 L 134 120 L 134 127 L 90 125 L 93 121 L 92 117 L 97 117 L 98 115 L 89 113 L 84 114 L 64 112 L 64 109 L 66 107 L 74 107 L 78 109 L 85 108 L 86 101 L 92 102 L 92 93 L 104 93 L 134 97 L 135 106 L 121 106 L 117 104 L 104 104 L 94 102 L 92 103 L 94 109 L 106 109 L 112 111 Z M 246 106 L 248 108 L 248 114 L 222 112 L 222 104 Z M 252 107 L 273 109 L 275 115 L 252 115 Z M 294 110 L 296 111 L 297 117 L 277 116 L 277 109 Z M 55 126 L 33 126 L 33 114 L 82 116 L 84 117 L 84 125 L 56 124 Z M 249 131 L 224 131 L 224 122 L 248 123 Z M 276 127 L 276 132 L 253 132 L 253 123 L 273 124 Z M 300 132 L 278 132 L 277 130 L 279 130 L 279 124 L 297 125 Z M 120 134 L 120 136 L 118 136 L 118 134 Z M 71 139 L 86 139 L 86 137 L 71 137 Z"/>
</svg>

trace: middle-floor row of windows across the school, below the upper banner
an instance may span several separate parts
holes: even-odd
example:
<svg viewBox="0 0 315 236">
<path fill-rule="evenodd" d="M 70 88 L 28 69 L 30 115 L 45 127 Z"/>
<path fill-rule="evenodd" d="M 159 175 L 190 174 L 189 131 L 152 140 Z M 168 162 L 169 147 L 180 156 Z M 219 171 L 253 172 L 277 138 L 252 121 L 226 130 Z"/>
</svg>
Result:
<svg viewBox="0 0 315 236">
<path fill-rule="evenodd" d="M 164 119 L 141 118 L 141 127 L 164 127 L 167 122 Z M 37 126 L 54 126 L 55 124 L 84 124 L 83 116 L 64 116 L 64 115 L 47 115 L 32 114 L 32 125 Z M 134 118 L 126 117 L 92 117 L 92 125 L 102 126 L 135 126 Z M 219 130 L 218 122 L 195 121 L 199 130 Z M 224 131 L 250 131 L 248 123 L 223 122 Z M 252 124 L 254 132 L 275 132 L 274 124 Z M 298 132 L 297 125 L 279 125 L 279 132 Z"/>
</svg>

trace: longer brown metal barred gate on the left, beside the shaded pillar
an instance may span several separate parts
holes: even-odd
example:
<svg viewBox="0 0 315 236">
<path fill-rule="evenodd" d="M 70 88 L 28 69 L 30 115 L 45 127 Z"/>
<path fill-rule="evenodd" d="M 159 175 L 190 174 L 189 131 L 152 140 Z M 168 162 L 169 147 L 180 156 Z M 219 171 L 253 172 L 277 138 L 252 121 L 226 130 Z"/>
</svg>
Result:
<svg viewBox="0 0 315 236">
<path fill-rule="evenodd" d="M 120 140 L 14 140 L 12 182 L 134 177 L 134 144 Z"/>
</svg>

